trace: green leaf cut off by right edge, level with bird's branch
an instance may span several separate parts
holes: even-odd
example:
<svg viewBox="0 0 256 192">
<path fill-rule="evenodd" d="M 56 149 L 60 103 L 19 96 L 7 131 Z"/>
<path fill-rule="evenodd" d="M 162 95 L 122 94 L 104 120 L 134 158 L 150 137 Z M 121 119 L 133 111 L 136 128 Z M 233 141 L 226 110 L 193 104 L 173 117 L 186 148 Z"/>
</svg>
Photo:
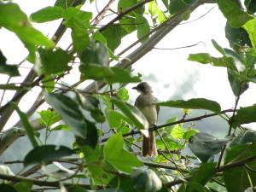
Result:
<svg viewBox="0 0 256 192">
<path fill-rule="evenodd" d="M 256 105 L 246 108 L 240 108 L 236 111 L 236 115 L 233 118 L 232 126 L 236 127 L 242 124 L 248 124 L 256 122 Z"/>
</svg>

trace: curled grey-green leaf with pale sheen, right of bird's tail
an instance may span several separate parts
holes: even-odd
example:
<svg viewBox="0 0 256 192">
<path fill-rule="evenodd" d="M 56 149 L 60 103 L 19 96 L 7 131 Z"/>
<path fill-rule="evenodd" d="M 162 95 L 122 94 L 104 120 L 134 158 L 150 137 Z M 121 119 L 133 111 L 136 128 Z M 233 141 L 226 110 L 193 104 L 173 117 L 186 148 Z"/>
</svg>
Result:
<svg viewBox="0 0 256 192">
<path fill-rule="evenodd" d="M 200 132 L 189 138 L 189 148 L 202 162 L 207 162 L 214 154 L 218 154 L 233 136 L 218 139 L 206 132 Z"/>
</svg>

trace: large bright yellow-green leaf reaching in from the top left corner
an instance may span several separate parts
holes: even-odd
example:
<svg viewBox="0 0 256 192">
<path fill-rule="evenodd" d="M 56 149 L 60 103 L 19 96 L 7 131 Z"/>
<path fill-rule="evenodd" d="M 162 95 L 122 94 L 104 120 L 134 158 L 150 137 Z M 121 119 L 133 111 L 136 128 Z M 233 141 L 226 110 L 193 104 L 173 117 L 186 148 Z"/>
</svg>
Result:
<svg viewBox="0 0 256 192">
<path fill-rule="evenodd" d="M 20 38 L 29 50 L 29 61 L 35 61 L 36 46 L 54 47 L 54 43 L 46 38 L 42 32 L 32 27 L 27 16 L 15 3 L 0 3 L 0 26 L 7 28 Z"/>
</svg>

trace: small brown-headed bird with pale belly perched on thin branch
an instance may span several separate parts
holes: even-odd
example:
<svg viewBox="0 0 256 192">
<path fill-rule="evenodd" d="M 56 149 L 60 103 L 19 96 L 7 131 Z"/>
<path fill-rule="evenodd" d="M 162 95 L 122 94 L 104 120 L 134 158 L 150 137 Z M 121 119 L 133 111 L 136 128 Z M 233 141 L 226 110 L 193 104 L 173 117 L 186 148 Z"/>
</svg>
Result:
<svg viewBox="0 0 256 192">
<path fill-rule="evenodd" d="M 154 104 L 157 99 L 153 96 L 153 91 L 150 85 L 146 82 L 142 82 L 137 84 L 137 86 L 133 87 L 132 89 L 137 90 L 140 93 L 135 101 L 135 106 L 146 117 L 149 125 L 156 125 L 160 108 Z M 157 147 L 155 143 L 154 131 L 149 131 L 148 137 L 143 136 L 143 156 L 156 155 Z"/>
</svg>

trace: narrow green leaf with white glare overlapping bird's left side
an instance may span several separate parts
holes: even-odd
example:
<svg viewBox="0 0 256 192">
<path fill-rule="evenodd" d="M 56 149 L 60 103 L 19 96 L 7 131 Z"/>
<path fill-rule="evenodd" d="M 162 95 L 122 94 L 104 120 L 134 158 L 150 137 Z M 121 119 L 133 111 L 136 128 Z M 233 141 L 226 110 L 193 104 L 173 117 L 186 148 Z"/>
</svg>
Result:
<svg viewBox="0 0 256 192">
<path fill-rule="evenodd" d="M 111 99 L 111 101 L 127 118 L 131 119 L 137 129 L 148 129 L 148 120 L 139 109 L 115 98 Z"/>
</svg>

